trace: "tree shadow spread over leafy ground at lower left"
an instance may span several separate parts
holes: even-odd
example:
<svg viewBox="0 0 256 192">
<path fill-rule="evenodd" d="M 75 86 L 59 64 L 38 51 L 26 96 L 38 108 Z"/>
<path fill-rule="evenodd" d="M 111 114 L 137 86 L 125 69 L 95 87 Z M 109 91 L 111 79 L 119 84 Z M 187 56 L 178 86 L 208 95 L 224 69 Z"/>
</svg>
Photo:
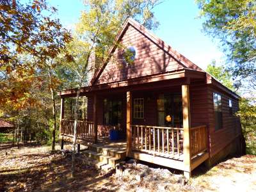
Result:
<svg viewBox="0 0 256 192">
<path fill-rule="evenodd" d="M 31 150 L 38 147 L 38 145 L 24 145 L 23 147 L 26 150 Z M 23 150 L 23 148 L 20 150 Z M 110 175 L 102 175 L 84 163 L 83 158 L 79 157 L 81 154 L 77 155 L 76 175 L 71 178 L 70 154 L 63 156 L 58 151 L 54 154 L 50 152 L 20 154 L 20 150 L 19 156 L 15 152 L 6 156 L 6 164 L 11 162 L 8 159 L 13 160 L 12 162 L 15 162 L 15 159 L 28 162 L 25 167 L 13 166 L 12 164 L 0 167 L 0 191 L 109 191 L 109 189 L 118 187 L 104 180 Z M 33 158 L 38 158 L 38 163 L 32 161 Z M 4 161 L 4 157 L 0 157 L 0 160 Z M 97 183 L 97 188 L 95 188 L 95 183 Z"/>
</svg>

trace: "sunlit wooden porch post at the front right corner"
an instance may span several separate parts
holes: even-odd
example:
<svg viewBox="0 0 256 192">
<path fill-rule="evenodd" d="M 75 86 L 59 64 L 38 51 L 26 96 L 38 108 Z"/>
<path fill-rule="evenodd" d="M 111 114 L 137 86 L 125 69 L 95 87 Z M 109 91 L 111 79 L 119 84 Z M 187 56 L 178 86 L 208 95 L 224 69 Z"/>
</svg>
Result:
<svg viewBox="0 0 256 192">
<path fill-rule="evenodd" d="M 182 114 L 183 114 L 183 154 L 184 154 L 184 177 L 191 177 L 191 154 L 189 150 L 189 128 L 190 124 L 190 106 L 189 106 L 189 85 L 182 84 Z"/>
</svg>

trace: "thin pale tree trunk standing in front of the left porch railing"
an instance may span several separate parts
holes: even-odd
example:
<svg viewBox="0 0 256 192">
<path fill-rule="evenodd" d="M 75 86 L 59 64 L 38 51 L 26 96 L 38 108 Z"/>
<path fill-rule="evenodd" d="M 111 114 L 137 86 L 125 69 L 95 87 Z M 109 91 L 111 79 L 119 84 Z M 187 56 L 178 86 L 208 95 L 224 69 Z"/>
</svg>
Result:
<svg viewBox="0 0 256 192">
<path fill-rule="evenodd" d="M 75 173 L 75 164 L 76 164 L 76 136 L 77 136 L 77 119 L 78 119 L 78 108 L 79 108 L 79 95 L 80 95 L 80 89 L 81 89 L 81 83 L 79 84 L 79 88 L 76 93 L 76 104 L 75 104 L 75 110 L 74 110 L 74 136 L 73 136 L 73 144 L 72 144 L 72 166 L 71 166 L 71 177 L 74 177 Z"/>
</svg>

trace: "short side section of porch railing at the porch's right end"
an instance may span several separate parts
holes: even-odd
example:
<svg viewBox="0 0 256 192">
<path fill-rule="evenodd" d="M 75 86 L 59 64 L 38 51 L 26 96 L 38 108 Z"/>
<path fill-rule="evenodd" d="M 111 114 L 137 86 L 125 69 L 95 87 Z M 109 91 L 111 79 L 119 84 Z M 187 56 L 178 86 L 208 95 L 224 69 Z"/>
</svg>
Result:
<svg viewBox="0 0 256 192">
<path fill-rule="evenodd" d="M 205 125 L 190 128 L 189 137 L 191 157 L 207 150 L 207 129 Z"/>
</svg>

